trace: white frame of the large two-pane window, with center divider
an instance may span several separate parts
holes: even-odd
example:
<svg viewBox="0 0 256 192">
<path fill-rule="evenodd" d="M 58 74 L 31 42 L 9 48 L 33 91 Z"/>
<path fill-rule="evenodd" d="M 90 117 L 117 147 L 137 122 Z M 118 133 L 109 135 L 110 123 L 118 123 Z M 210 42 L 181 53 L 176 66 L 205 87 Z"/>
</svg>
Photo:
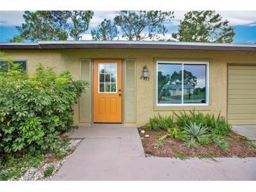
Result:
<svg viewBox="0 0 256 192">
<path fill-rule="evenodd" d="M 181 104 L 159 104 L 158 103 L 158 85 L 159 85 L 159 63 L 166 64 L 182 64 L 182 103 Z M 184 64 L 206 64 L 206 103 L 183 103 L 183 76 Z M 209 105 L 209 62 L 189 62 L 189 61 L 156 61 L 156 107 L 170 107 L 170 106 L 208 106 Z"/>
</svg>

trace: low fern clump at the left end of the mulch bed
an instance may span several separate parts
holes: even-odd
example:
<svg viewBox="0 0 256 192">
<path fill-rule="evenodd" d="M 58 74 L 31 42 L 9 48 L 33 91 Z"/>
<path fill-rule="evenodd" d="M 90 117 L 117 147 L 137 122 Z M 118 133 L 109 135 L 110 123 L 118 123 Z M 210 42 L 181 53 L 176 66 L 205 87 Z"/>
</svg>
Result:
<svg viewBox="0 0 256 192">
<path fill-rule="evenodd" d="M 168 128 L 173 128 L 175 123 L 173 121 L 173 116 L 154 116 L 154 118 L 149 118 L 149 129 L 150 130 L 168 130 Z"/>
</svg>

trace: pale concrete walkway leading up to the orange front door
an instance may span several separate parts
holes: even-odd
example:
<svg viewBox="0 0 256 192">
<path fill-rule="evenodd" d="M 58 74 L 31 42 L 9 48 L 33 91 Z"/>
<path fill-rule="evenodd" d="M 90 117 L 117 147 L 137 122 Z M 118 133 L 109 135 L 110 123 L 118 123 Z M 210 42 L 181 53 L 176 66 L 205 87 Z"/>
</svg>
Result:
<svg viewBox="0 0 256 192">
<path fill-rule="evenodd" d="M 137 128 L 92 125 L 53 180 L 256 180 L 256 158 L 178 160 L 145 157 Z"/>
</svg>

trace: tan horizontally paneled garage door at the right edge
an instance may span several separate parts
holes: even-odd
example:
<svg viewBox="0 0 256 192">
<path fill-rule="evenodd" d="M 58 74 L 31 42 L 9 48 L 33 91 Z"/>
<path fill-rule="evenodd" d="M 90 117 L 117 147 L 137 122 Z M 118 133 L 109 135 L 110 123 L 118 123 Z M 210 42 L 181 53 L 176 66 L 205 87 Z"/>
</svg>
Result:
<svg viewBox="0 0 256 192">
<path fill-rule="evenodd" d="M 231 124 L 256 124 L 256 64 L 229 64 L 227 111 Z"/>
</svg>

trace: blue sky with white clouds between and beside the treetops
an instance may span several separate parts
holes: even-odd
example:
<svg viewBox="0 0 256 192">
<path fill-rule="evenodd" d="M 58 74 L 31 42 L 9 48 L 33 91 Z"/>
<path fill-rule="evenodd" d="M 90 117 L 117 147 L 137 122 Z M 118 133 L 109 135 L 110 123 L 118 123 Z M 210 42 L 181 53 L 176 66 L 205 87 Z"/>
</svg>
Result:
<svg viewBox="0 0 256 192">
<path fill-rule="evenodd" d="M 19 32 L 15 26 L 22 25 L 24 11 L 0 11 L 0 42 L 8 42 Z M 93 19 L 90 21 L 89 29 L 83 34 L 82 40 L 92 39 L 90 30 L 97 27 L 102 20 L 113 20 L 118 11 L 94 11 Z M 175 18 L 166 24 L 168 33 L 164 38 L 170 39 L 173 32 L 177 32 L 180 20 L 184 18 L 187 11 L 174 11 Z M 217 11 L 223 19 L 229 20 L 234 27 L 236 35 L 234 43 L 256 43 L 256 11 Z"/>
</svg>

